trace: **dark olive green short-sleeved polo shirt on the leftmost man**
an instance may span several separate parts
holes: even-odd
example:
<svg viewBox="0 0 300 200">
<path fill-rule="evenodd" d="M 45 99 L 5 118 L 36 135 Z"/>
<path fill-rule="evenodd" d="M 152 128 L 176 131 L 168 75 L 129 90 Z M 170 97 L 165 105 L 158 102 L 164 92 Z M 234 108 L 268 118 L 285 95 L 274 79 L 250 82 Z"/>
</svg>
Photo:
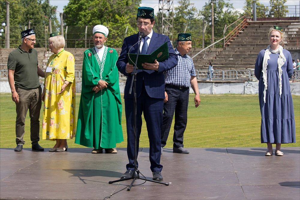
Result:
<svg viewBox="0 0 300 200">
<path fill-rule="evenodd" d="M 10 52 L 7 69 L 15 70 L 13 75 L 15 87 L 25 89 L 38 88 L 40 86 L 37 68 L 38 52 L 35 49 L 30 49 L 29 52 L 26 52 L 20 46 Z"/>
</svg>

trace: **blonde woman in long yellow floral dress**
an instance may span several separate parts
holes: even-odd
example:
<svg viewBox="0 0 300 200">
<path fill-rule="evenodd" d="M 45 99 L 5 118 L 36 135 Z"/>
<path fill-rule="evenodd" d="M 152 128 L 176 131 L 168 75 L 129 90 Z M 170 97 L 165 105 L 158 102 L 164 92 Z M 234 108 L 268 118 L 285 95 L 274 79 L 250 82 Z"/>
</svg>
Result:
<svg viewBox="0 0 300 200">
<path fill-rule="evenodd" d="M 42 139 L 56 140 L 49 151 L 66 151 L 67 139 L 75 136 L 75 59 L 64 50 L 65 40 L 58 32 L 48 40 L 53 55 L 45 71 Z"/>
</svg>

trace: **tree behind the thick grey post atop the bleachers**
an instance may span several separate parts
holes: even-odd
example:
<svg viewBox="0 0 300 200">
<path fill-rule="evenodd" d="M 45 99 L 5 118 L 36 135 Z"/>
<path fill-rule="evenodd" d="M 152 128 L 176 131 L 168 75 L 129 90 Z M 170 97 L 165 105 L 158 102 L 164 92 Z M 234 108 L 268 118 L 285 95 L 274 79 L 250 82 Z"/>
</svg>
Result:
<svg viewBox="0 0 300 200">
<path fill-rule="evenodd" d="M 256 17 L 264 18 L 266 17 L 266 13 L 268 13 L 268 7 L 265 7 L 263 4 L 259 3 L 255 0 L 256 3 Z M 253 17 L 253 0 L 246 0 L 245 5 L 243 7 L 244 14 L 247 14 L 250 17 Z"/>
</svg>

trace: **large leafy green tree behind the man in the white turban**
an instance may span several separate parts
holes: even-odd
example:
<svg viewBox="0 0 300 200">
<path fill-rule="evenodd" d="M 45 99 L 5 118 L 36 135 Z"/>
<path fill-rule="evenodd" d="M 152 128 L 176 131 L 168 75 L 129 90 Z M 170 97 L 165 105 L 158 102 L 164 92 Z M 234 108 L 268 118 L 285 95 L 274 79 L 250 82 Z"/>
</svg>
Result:
<svg viewBox="0 0 300 200">
<path fill-rule="evenodd" d="M 92 27 L 102 24 L 108 26 L 110 31 L 107 45 L 121 46 L 127 26 L 127 35 L 138 31 L 136 13 L 140 2 L 140 0 L 70 0 L 64 7 L 64 23 L 68 26 L 68 33 L 70 33 L 67 34 L 67 39 L 83 40 L 85 26 L 89 26 L 87 33 L 88 38 L 91 39 Z M 83 43 L 78 45 L 76 44 L 76 47 L 84 47 Z"/>
</svg>

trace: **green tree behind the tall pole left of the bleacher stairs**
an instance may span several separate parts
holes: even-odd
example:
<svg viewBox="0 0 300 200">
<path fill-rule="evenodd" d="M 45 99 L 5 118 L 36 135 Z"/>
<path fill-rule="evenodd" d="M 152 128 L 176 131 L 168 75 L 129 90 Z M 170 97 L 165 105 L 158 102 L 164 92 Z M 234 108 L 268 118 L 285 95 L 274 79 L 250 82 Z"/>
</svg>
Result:
<svg viewBox="0 0 300 200">
<path fill-rule="evenodd" d="M 211 1 L 205 3 L 200 13 L 203 15 L 204 20 L 211 24 Z M 214 1 L 214 37 L 215 41 L 223 37 L 223 30 L 225 24 L 229 25 L 235 22 L 240 17 L 238 11 L 233 11 L 231 3 L 225 2 L 224 0 Z M 227 32 L 231 31 L 235 27 L 229 27 Z M 206 29 L 205 37 L 211 37 L 211 26 Z M 221 47 L 223 44 L 216 44 L 217 47 Z"/>
</svg>

